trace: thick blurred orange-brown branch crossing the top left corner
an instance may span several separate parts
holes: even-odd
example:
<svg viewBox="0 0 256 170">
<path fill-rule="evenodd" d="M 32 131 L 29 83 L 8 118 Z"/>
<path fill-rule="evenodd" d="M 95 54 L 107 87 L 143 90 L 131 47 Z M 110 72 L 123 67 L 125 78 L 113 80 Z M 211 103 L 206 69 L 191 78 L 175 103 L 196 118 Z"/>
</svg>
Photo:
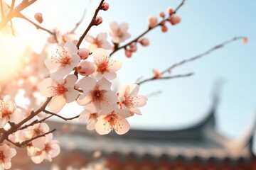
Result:
<svg viewBox="0 0 256 170">
<path fill-rule="evenodd" d="M 19 12 L 21 12 L 24 8 L 31 6 L 36 1 L 37 0 L 23 0 L 21 4 L 18 4 L 18 6 L 14 8 L 13 11 L 9 11 L 6 17 L 0 22 L 0 30 L 2 30 L 6 26 L 6 24 L 9 23 L 9 21 L 11 21 L 11 19 L 14 18 Z"/>
</svg>

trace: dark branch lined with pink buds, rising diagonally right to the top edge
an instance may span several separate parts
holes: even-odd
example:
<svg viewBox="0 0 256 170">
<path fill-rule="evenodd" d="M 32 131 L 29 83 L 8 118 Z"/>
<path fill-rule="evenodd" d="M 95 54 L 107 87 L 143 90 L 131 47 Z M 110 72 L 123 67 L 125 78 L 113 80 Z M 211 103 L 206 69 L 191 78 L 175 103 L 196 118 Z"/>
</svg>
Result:
<svg viewBox="0 0 256 170">
<path fill-rule="evenodd" d="M 181 4 L 178 5 L 178 7 L 175 9 L 174 13 L 176 13 L 178 11 L 179 8 L 181 8 L 181 6 L 183 6 L 185 0 L 181 1 Z M 174 13 L 171 13 L 170 16 Z M 168 21 L 167 17 L 166 19 L 163 18 L 162 21 L 160 21 L 154 28 L 161 26 L 161 24 L 165 21 Z M 142 34 L 140 34 L 137 38 L 134 38 L 134 40 L 131 40 L 130 42 L 127 42 L 125 45 L 122 45 L 120 47 L 118 47 L 117 44 L 114 44 L 114 50 L 110 53 L 110 57 L 112 55 L 114 55 L 115 52 L 117 52 L 118 50 L 121 50 L 122 48 L 126 48 L 128 45 L 132 44 L 132 42 L 137 42 L 139 40 L 139 38 L 142 38 L 144 35 L 146 35 L 146 33 L 149 33 L 150 30 L 153 30 L 154 28 L 148 28 L 147 30 L 145 30 Z"/>
</svg>

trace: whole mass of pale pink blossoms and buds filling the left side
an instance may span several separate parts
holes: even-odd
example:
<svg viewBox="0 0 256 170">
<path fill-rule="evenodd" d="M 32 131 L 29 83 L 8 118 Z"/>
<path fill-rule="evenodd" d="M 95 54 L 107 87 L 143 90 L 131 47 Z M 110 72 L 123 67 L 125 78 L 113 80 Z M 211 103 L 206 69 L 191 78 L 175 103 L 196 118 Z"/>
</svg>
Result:
<svg viewBox="0 0 256 170">
<path fill-rule="evenodd" d="M 109 7 L 104 2 L 98 9 L 107 11 Z M 9 8 L 4 3 L 5 14 Z M 112 81 L 122 67 L 122 62 L 111 58 L 112 54 L 124 49 L 124 55 L 132 57 L 137 52 L 138 44 L 144 47 L 149 45 L 149 39 L 143 37 L 149 30 L 161 26 L 161 30 L 166 32 L 167 21 L 172 25 L 181 21 L 173 9 L 169 8 L 168 13 L 167 18 L 164 12 L 159 13 L 162 18 L 160 22 L 157 17 L 149 16 L 149 29 L 125 45 L 121 43 L 131 38 L 127 23 L 110 23 L 112 43 L 107 40 L 107 33 L 99 33 L 96 37 L 88 34 L 80 37 L 90 43 L 88 47 L 80 47 L 81 41 L 75 39 L 74 32 L 62 34 L 57 29 L 54 32 L 48 30 L 49 44 L 58 45 L 56 52 L 47 58 L 46 52 L 41 57 L 30 52 L 29 55 L 33 57 L 24 59 L 22 71 L 16 75 L 18 78 L 9 81 L 9 86 L 0 87 L 0 93 L 4 96 L 0 101 L 0 130 L 4 136 L 0 144 L 1 169 L 9 169 L 11 158 L 16 155 L 16 149 L 4 144 L 4 140 L 16 147 L 26 147 L 28 157 L 36 164 L 44 159 L 51 161 L 60 153 L 58 141 L 53 140 L 53 130 L 50 131 L 44 121 L 53 115 L 63 118 L 59 114 L 66 103 L 76 102 L 82 106 L 83 111 L 77 118 L 87 122 L 87 130 L 95 130 L 100 135 L 111 131 L 118 135 L 128 132 L 127 118 L 142 115 L 139 109 L 146 105 L 147 98 L 139 94 L 138 84 L 123 86 L 120 91 L 112 90 Z M 38 23 L 43 23 L 42 13 L 36 13 L 34 18 Z M 102 17 L 96 15 L 90 26 L 99 26 L 102 21 Z M 38 25 L 36 27 L 41 28 Z M 161 72 L 157 69 L 154 70 L 154 78 L 161 78 Z M 18 90 L 13 89 L 23 89 L 24 96 L 30 99 L 30 105 L 24 108 L 16 106 L 14 96 Z M 48 98 L 41 107 L 38 106 L 35 91 Z M 11 95 L 6 95 L 9 93 Z M 33 111 L 33 108 L 38 110 Z"/>
</svg>

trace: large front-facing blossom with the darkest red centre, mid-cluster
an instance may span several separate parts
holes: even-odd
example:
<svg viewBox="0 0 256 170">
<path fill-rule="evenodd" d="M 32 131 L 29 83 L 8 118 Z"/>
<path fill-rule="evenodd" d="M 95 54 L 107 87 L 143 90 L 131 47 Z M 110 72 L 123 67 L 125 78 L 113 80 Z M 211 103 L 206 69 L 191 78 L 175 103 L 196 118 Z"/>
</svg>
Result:
<svg viewBox="0 0 256 170">
<path fill-rule="evenodd" d="M 88 105 L 95 113 L 109 113 L 117 108 L 118 98 L 110 90 L 111 82 L 105 78 L 96 81 L 92 77 L 84 77 L 78 81 L 83 95 L 78 98 L 80 105 Z"/>
</svg>

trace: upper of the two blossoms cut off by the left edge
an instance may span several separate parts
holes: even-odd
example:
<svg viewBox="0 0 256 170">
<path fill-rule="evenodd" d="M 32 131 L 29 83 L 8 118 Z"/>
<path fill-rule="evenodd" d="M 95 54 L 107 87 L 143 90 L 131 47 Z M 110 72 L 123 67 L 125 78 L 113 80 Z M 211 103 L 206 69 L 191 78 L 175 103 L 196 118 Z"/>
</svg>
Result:
<svg viewBox="0 0 256 170">
<path fill-rule="evenodd" d="M 14 98 L 6 95 L 4 100 L 0 100 L 0 128 L 3 128 L 7 122 L 18 123 L 22 120 L 22 113 L 16 111 Z"/>
</svg>

